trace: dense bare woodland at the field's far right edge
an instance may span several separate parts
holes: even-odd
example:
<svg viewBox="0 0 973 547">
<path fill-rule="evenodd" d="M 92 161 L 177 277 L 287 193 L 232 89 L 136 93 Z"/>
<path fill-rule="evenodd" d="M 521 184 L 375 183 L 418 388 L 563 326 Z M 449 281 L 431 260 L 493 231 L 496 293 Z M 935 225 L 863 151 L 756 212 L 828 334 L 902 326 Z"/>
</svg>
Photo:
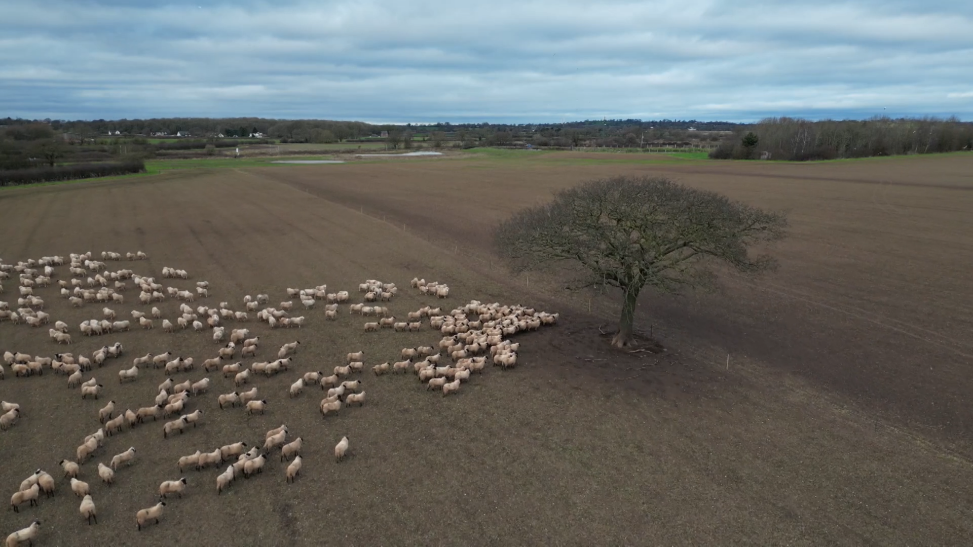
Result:
<svg viewBox="0 0 973 547">
<path fill-rule="evenodd" d="M 738 128 L 709 157 L 809 161 L 973 150 L 973 124 L 955 118 L 825 120 L 768 118 Z"/>
</svg>

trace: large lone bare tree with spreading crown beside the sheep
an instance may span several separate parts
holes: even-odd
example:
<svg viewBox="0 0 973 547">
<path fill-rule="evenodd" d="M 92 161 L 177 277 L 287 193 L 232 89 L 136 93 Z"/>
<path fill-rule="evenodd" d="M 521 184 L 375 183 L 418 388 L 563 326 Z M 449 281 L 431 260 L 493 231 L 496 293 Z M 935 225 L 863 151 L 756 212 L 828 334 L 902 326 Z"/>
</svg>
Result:
<svg viewBox="0 0 973 547">
<path fill-rule="evenodd" d="M 497 228 L 498 251 L 516 271 L 555 267 L 569 288 L 610 286 L 624 301 L 617 347 L 631 346 L 635 302 L 648 285 L 664 292 L 699 286 L 717 263 L 743 273 L 775 267 L 748 248 L 784 236 L 782 213 L 730 201 L 666 178 L 615 177 L 561 190 L 554 201 L 516 213 Z"/>
</svg>

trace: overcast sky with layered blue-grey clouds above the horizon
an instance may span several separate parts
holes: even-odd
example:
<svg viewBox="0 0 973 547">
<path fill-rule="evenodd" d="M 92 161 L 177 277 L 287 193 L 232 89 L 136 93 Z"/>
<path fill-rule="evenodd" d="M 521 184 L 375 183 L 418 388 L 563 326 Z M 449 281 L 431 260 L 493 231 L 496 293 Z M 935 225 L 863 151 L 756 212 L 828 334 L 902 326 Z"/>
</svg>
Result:
<svg viewBox="0 0 973 547">
<path fill-rule="evenodd" d="M 0 117 L 973 120 L 970 0 L 0 0 Z"/>
</svg>

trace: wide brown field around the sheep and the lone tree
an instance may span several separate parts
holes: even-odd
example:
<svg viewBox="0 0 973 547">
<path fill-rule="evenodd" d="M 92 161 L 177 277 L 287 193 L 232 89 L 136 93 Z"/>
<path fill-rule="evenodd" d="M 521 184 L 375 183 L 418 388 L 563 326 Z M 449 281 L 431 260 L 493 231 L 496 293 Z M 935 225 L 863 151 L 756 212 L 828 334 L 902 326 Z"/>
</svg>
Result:
<svg viewBox="0 0 973 547">
<path fill-rule="evenodd" d="M 666 347 L 619 353 L 598 326 L 615 319 L 611 295 L 568 296 L 546 275 L 510 277 L 492 257 L 489 230 L 524 205 L 585 179 L 614 174 L 674 177 L 759 206 L 789 209 L 790 237 L 775 247 L 780 269 L 759 279 L 723 278 L 716 293 L 646 295 L 636 319 Z M 221 411 L 232 379 L 204 374 L 216 355 L 209 332 L 156 329 L 85 338 L 83 319 L 57 289 L 38 289 L 74 344 L 47 327 L 0 323 L 0 351 L 90 355 L 121 342 L 122 358 L 91 375 L 104 384 L 82 400 L 63 376 L 14 378 L 0 398 L 23 416 L 0 432 L 0 485 L 13 494 L 40 467 L 56 494 L 38 507 L 0 513 L 0 534 L 42 521 L 35 545 L 963 545 L 973 542 L 973 156 L 821 164 L 641 162 L 592 154 L 472 156 L 436 160 L 169 171 L 154 177 L 0 192 L 0 257 L 6 263 L 102 250 L 142 250 L 149 260 L 108 262 L 211 296 L 287 300 L 286 287 L 328 284 L 352 302 L 366 278 L 395 282 L 396 316 L 424 304 L 447 310 L 476 299 L 558 311 L 558 325 L 517 335 L 519 366 L 487 367 L 455 396 L 428 392 L 412 375 L 362 376 L 368 400 L 322 419 L 323 393 L 288 385 L 330 371 L 362 349 L 370 367 L 440 336 L 362 332 L 342 307 L 298 311 L 306 325 L 275 329 L 253 319 L 257 359 L 301 341 L 291 371 L 255 378 L 264 416 Z M 162 267 L 189 280 L 162 280 Z M 59 267 L 54 278 L 67 277 Z M 450 285 L 419 295 L 414 277 Z M 16 277 L 16 275 L 15 275 Z M 16 279 L 0 300 L 17 301 Z M 124 305 L 130 318 L 137 289 Z M 296 307 L 300 304 L 295 301 Z M 157 304 L 175 319 L 178 303 Z M 237 325 L 231 323 L 231 327 Z M 107 440 L 81 478 L 98 524 L 57 462 L 74 458 L 98 428 L 97 410 L 150 406 L 162 370 L 134 383 L 118 371 L 146 352 L 192 356 L 208 393 L 198 427 L 162 438 L 162 420 Z M 729 358 L 728 358 L 729 356 Z M 237 356 L 236 359 L 239 357 Z M 234 360 L 236 360 L 234 359 Z M 285 484 L 277 452 L 264 472 L 217 495 L 221 469 L 176 469 L 179 456 L 235 441 L 263 443 L 281 423 L 304 439 L 304 467 Z M 347 435 L 351 456 L 333 448 Z M 102 485 L 96 462 L 134 447 L 134 463 Z M 223 466 L 225 468 L 226 465 Z M 135 512 L 163 480 L 185 476 L 159 526 L 135 529 Z"/>
</svg>

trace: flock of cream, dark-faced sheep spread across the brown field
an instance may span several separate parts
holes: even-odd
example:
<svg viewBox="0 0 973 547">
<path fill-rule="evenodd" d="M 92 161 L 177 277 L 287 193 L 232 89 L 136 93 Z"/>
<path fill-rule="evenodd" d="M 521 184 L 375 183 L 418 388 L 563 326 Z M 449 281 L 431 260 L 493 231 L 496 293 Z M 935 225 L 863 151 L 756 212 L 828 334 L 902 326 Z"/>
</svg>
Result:
<svg viewBox="0 0 973 547">
<path fill-rule="evenodd" d="M 16 309 L 12 310 L 7 302 L 0 302 L 0 323 L 6 320 L 14 325 L 22 323 L 35 328 L 47 325 L 48 334 L 55 345 L 71 345 L 76 341 L 72 339 L 68 325 L 58 320 L 52 323 L 50 313 L 44 311 L 44 300 L 34 294 L 35 290 L 40 291 L 53 284 L 53 278 L 57 276 L 55 267 L 67 263 L 66 271 L 69 275 L 67 278 L 58 278 L 56 286 L 59 288 L 60 296 L 76 308 L 89 304 L 98 306 L 102 303 L 115 307 L 124 305 L 126 301 L 124 293 L 129 288 L 130 280 L 136 288 L 140 289 L 139 306 L 151 306 L 166 299 L 176 299 L 181 301 L 180 315 L 174 317 L 173 322 L 169 318 L 163 318 L 162 311 L 153 306 L 148 311 L 131 310 L 131 320 L 122 320 L 115 310 L 104 306 L 100 317 L 82 322 L 77 332 L 85 337 L 105 336 L 130 330 L 133 322 L 137 322 L 139 328 L 148 330 L 155 328 L 157 320 L 161 321 L 162 330 L 167 332 L 177 328 L 192 328 L 198 332 L 208 330 L 214 344 L 220 347 L 216 355 L 203 360 L 200 366 L 206 373 L 220 371 L 224 378 L 233 378 L 235 389 L 217 396 L 219 406 L 225 409 L 239 405 L 246 410 L 247 414 L 263 414 L 269 402 L 259 393 L 257 386 L 246 390 L 243 386 L 251 383 L 258 376 L 270 377 L 289 372 L 293 364 L 292 355 L 297 352 L 301 343 L 294 341 L 285 344 L 278 349 L 276 359 L 255 361 L 247 367 L 242 361 L 232 361 L 237 356 L 237 350 L 240 358 L 256 356 L 261 344 L 260 336 L 254 336 L 248 328 L 232 328 L 231 324 L 249 321 L 250 314 L 253 313 L 259 321 L 267 323 L 270 329 L 300 328 L 306 324 L 306 318 L 292 316 L 291 312 L 295 308 L 294 300 L 301 303 L 303 310 L 313 310 L 319 301 L 324 301 L 325 319 L 337 320 L 340 306 L 351 299 L 347 291 L 329 293 L 326 285 L 319 285 L 309 289 L 286 289 L 287 300 L 281 302 L 276 308 L 269 306 L 269 295 L 259 294 L 254 298 L 244 297 L 242 310 L 231 310 L 227 302 L 220 303 L 216 308 L 198 306 L 194 309 L 189 306 L 190 303 L 194 303 L 197 298 L 209 297 L 209 284 L 206 281 L 196 282 L 194 290 L 164 286 L 154 277 L 134 274 L 131 270 L 109 271 L 104 261 L 121 260 L 120 253 L 105 251 L 101 253 L 101 257 L 102 261 L 92 260 L 91 253 L 88 252 L 71 254 L 68 261 L 63 257 L 52 256 L 19 262 L 16 265 L 4 264 L 0 260 L 0 294 L 4 291 L 3 281 L 11 279 L 12 274 L 18 275 L 19 292 Z M 148 256 L 138 251 L 126 253 L 126 258 L 145 260 Z M 165 267 L 162 269 L 162 278 L 186 280 L 189 279 L 189 274 L 184 270 Z M 450 295 L 449 286 L 426 282 L 424 279 L 414 278 L 411 287 L 420 294 L 439 299 L 446 299 Z M 365 332 L 378 332 L 385 328 L 395 331 L 418 331 L 422 329 L 424 321 L 443 336 L 438 347 L 403 348 L 400 353 L 401 360 L 376 364 L 371 367 L 372 372 L 377 377 L 384 374 L 412 373 L 419 382 L 426 384 L 426 389 L 440 390 L 443 396 L 458 392 L 461 384 L 470 380 L 471 374 L 482 373 L 487 360 L 503 369 L 517 366 L 517 351 L 520 345 L 511 342 L 509 337 L 522 331 L 535 330 L 542 325 L 555 324 L 558 320 L 557 313 L 472 301 L 463 307 L 447 311 L 426 306 L 409 311 L 404 317 L 407 320 L 399 321 L 387 307 L 378 305 L 392 301 L 398 293 L 399 289 L 394 283 L 369 279 L 361 283 L 358 289 L 360 293 L 364 293 L 364 302 L 348 304 L 347 308 L 351 314 L 375 319 L 364 322 Z M 97 399 L 104 390 L 104 384 L 98 383 L 93 376 L 85 381 L 85 374 L 105 366 L 110 359 L 122 357 L 124 353 L 125 347 L 118 342 L 96 349 L 90 357 L 82 354 L 74 355 L 70 352 L 57 352 L 45 357 L 5 350 L 3 363 L 0 364 L 0 379 L 7 375 L 5 365 L 16 378 L 43 375 L 47 369 L 55 375 L 66 376 L 68 387 L 80 388 L 82 398 Z M 344 362 L 329 371 L 331 374 L 311 371 L 299 375 L 295 382 L 290 384 L 288 395 L 299 397 L 306 386 L 315 384 L 322 390 L 327 390 L 326 396 L 318 405 L 324 418 L 339 412 L 344 407 L 364 405 L 366 393 L 362 388 L 362 381 L 349 380 L 349 378 L 364 371 L 365 353 L 364 350 L 347 353 Z M 71 491 L 82 498 L 79 511 L 89 524 L 97 523 L 97 511 L 88 483 L 79 480 L 78 475 L 81 466 L 103 448 L 110 437 L 122 433 L 126 427 L 138 427 L 152 418 L 153 421 L 165 420 L 162 425 L 162 435 L 163 438 L 168 438 L 176 432 L 182 433 L 189 425 L 195 427 L 202 419 L 202 410 L 188 412 L 186 407 L 191 405 L 194 397 L 206 393 L 212 381 L 205 377 L 197 382 L 186 380 L 176 383 L 171 378 L 176 373 L 194 371 L 196 368 L 194 359 L 175 356 L 168 351 L 157 355 L 149 353 L 137 356 L 133 358 L 130 368 L 123 366 L 118 371 L 119 383 L 137 382 L 140 371 L 150 367 L 162 369 L 166 377 L 165 381 L 156 387 L 156 395 L 151 403 L 133 411 L 116 408 L 115 401 L 109 401 L 97 413 L 101 426 L 85 437 L 84 442 L 75 452 L 75 460 L 60 461 L 64 477 L 70 480 Z M 24 416 L 18 403 L 7 401 L 0 402 L 0 413 L 2 413 L 0 414 L 2 430 L 15 426 Z M 200 470 L 208 466 L 222 467 L 227 461 L 231 461 L 232 463 L 216 477 L 216 490 L 219 494 L 229 488 L 240 476 L 249 478 L 254 474 L 262 473 L 268 456 L 274 449 L 278 449 L 281 461 L 289 461 L 285 469 L 286 481 L 293 482 L 297 479 L 303 464 L 300 454 L 303 440 L 300 436 L 288 440 L 289 434 L 287 425 L 281 424 L 267 432 L 262 446 L 247 449 L 247 444 L 239 441 L 216 448 L 212 452 L 197 451 L 193 455 L 180 457 L 177 464 L 180 470 L 186 467 Z M 343 436 L 335 446 L 336 461 L 342 461 L 349 451 L 348 437 Z M 108 465 L 99 462 L 98 478 L 107 485 L 112 484 L 115 473 L 120 467 L 130 465 L 135 456 L 136 449 L 131 447 L 112 457 Z M 47 496 L 53 495 L 54 487 L 54 477 L 42 469 L 37 469 L 20 484 L 18 491 L 11 498 L 11 506 L 18 512 L 24 503 L 36 505 L 40 493 L 44 492 Z M 186 488 L 185 477 L 162 482 L 158 491 L 159 502 L 136 512 L 137 529 L 142 529 L 150 522 L 158 524 L 164 512 L 165 498 L 171 494 L 178 494 L 181 497 Z M 24 541 L 32 544 L 39 528 L 40 521 L 35 520 L 29 527 L 11 533 L 7 537 L 7 546 L 16 546 Z"/>
</svg>

